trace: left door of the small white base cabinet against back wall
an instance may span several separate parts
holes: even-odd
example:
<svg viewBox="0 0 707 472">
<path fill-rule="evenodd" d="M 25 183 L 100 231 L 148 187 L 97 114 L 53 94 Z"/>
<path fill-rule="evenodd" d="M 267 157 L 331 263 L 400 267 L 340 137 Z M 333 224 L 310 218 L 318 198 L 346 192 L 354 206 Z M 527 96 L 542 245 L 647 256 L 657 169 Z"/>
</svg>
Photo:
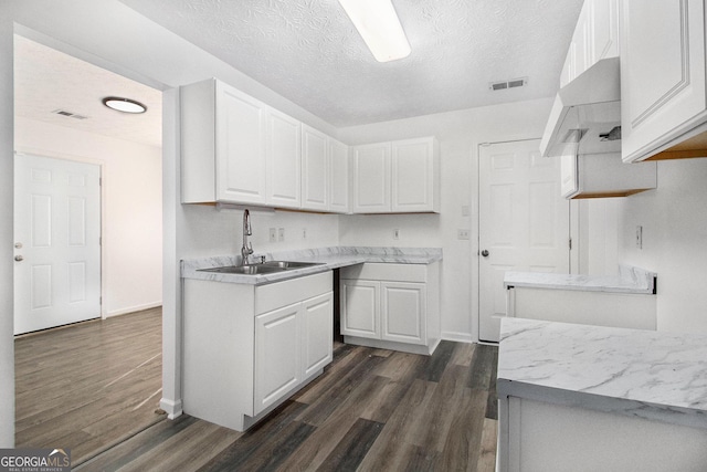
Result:
<svg viewBox="0 0 707 472">
<path fill-rule="evenodd" d="M 341 334 L 380 339 L 380 283 L 341 280 Z"/>
</svg>

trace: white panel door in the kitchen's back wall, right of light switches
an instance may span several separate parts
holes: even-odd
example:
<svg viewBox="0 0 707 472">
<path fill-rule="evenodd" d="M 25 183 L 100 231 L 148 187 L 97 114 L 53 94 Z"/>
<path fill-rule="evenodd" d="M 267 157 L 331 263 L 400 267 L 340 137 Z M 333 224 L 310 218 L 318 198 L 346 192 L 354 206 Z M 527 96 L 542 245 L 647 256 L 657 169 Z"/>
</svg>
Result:
<svg viewBox="0 0 707 472">
<path fill-rule="evenodd" d="M 506 271 L 569 273 L 569 201 L 560 159 L 539 139 L 479 147 L 478 337 L 497 342 L 506 314 Z"/>
</svg>

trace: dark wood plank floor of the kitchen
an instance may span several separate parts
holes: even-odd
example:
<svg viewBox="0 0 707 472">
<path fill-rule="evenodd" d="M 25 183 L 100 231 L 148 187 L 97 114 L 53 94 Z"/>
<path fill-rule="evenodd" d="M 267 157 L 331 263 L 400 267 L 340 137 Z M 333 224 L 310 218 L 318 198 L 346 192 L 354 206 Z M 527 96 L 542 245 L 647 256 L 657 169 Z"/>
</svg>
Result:
<svg viewBox="0 0 707 472">
<path fill-rule="evenodd" d="M 493 471 L 497 348 L 433 356 L 335 344 L 325 373 L 239 433 L 163 420 L 78 471 Z"/>
</svg>

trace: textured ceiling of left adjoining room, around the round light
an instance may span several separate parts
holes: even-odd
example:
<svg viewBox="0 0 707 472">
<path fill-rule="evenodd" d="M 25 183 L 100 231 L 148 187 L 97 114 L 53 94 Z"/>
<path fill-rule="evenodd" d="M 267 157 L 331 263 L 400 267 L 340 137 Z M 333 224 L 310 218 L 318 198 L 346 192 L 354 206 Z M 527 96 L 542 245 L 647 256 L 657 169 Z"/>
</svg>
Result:
<svg viewBox="0 0 707 472">
<path fill-rule="evenodd" d="M 106 96 L 137 99 L 147 112 L 130 115 L 106 108 Z M 86 119 L 52 113 L 63 109 Z M 17 116 L 88 133 L 162 145 L 162 94 L 122 75 L 14 35 Z"/>
</svg>

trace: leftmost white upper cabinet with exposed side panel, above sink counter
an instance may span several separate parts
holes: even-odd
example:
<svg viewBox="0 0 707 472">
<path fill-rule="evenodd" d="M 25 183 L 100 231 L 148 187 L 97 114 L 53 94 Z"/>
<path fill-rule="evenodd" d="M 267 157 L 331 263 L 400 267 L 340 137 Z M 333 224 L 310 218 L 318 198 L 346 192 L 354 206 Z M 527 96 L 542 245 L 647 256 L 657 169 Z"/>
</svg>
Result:
<svg viewBox="0 0 707 472">
<path fill-rule="evenodd" d="M 265 204 L 265 111 L 215 80 L 181 87 L 181 200 Z"/>
</svg>

